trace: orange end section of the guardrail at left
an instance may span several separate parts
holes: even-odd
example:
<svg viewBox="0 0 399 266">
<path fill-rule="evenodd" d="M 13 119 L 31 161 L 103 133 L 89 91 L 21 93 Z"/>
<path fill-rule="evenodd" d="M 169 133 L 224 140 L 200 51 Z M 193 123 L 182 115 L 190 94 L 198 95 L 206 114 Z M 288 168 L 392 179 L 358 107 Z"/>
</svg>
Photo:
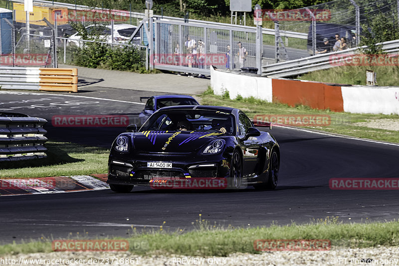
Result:
<svg viewBox="0 0 399 266">
<path fill-rule="evenodd" d="M 78 92 L 77 68 L 39 68 L 39 90 Z"/>
</svg>

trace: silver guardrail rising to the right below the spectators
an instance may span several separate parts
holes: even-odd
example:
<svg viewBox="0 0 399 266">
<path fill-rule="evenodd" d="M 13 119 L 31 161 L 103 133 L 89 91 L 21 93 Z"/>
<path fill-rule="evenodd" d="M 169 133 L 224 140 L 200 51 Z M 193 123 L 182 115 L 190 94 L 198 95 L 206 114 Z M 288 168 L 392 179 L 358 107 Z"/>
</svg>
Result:
<svg viewBox="0 0 399 266">
<path fill-rule="evenodd" d="M 377 45 L 380 44 L 383 45 L 383 50 L 385 52 L 393 53 L 399 51 L 399 40 L 391 40 L 391 41 L 377 43 Z M 274 77 L 289 77 L 289 76 L 308 73 L 311 71 L 328 69 L 337 66 L 335 64 L 332 64 L 330 61 L 332 55 L 355 54 L 359 48 L 367 48 L 367 46 L 364 45 L 357 48 L 351 48 L 351 49 L 346 49 L 337 52 L 329 52 L 324 54 L 317 54 L 305 58 L 265 65 L 262 66 L 262 75 L 274 76 Z"/>
</svg>

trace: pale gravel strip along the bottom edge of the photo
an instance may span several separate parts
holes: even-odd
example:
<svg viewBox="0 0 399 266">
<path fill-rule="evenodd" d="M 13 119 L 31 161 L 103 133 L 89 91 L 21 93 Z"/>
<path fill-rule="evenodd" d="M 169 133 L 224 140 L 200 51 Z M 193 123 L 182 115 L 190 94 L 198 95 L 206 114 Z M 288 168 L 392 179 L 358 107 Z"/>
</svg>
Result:
<svg viewBox="0 0 399 266">
<path fill-rule="evenodd" d="M 113 259 L 114 258 L 114 259 Z M 19 263 L 23 260 L 41 262 Z M 91 259 L 91 261 L 90 261 Z M 113 263 L 111 264 L 111 260 Z M 8 260 L 8 261 L 7 261 Z M 228 257 L 188 257 L 180 255 L 136 256 L 128 252 L 53 252 L 0 257 L 0 265 L 48 266 L 48 265 L 227 265 L 227 266 L 281 266 L 281 265 L 399 265 L 399 247 L 365 249 L 332 248 L 330 251 L 265 252 L 232 254 Z M 46 260 L 43 262 L 43 260 Z M 48 261 L 50 260 L 50 261 Z M 51 262 L 51 260 L 53 260 Z M 56 262 L 55 260 L 64 260 Z M 71 261 L 72 260 L 72 261 Z M 79 262 L 79 260 L 81 260 Z M 83 261 L 85 260 L 85 261 Z M 97 260 L 97 261 L 95 261 Z M 123 260 L 123 261 L 122 261 Z M 108 263 L 107 263 L 108 261 Z"/>
</svg>

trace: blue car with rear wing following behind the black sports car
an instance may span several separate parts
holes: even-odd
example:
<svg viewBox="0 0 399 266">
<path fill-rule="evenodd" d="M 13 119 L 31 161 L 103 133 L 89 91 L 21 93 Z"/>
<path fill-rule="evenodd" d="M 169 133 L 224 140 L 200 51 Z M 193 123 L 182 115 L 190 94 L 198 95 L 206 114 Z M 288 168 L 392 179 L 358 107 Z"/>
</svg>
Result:
<svg viewBox="0 0 399 266">
<path fill-rule="evenodd" d="M 141 125 L 143 125 L 155 111 L 162 107 L 175 105 L 199 105 L 196 99 L 189 95 L 167 94 L 151 97 L 140 97 L 140 101 L 143 99 L 148 100 L 144 110 L 139 114 Z"/>
</svg>

